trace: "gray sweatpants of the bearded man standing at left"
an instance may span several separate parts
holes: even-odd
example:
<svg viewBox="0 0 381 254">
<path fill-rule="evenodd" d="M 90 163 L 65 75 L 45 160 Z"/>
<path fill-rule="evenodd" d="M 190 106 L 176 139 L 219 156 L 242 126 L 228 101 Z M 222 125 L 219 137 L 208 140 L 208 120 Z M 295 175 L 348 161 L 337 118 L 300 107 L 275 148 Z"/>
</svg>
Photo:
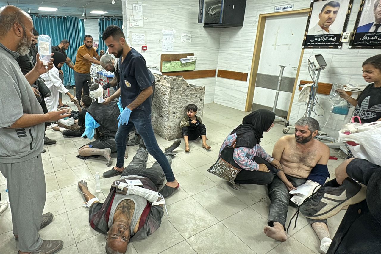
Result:
<svg viewBox="0 0 381 254">
<path fill-rule="evenodd" d="M 41 154 L 19 163 L 0 163 L 0 171 L 8 180 L 13 234 L 19 236 L 18 247 L 23 252 L 35 251 L 42 244 L 38 231 L 46 199 Z"/>
</svg>

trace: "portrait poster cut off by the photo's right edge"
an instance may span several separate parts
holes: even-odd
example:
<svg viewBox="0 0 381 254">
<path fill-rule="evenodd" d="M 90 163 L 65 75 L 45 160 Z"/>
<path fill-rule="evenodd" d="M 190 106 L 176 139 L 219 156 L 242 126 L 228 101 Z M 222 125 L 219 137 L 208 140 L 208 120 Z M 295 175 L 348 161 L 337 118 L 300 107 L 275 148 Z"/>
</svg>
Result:
<svg viewBox="0 0 381 254">
<path fill-rule="evenodd" d="M 381 0 L 362 0 L 349 48 L 381 48 Z"/>
</svg>

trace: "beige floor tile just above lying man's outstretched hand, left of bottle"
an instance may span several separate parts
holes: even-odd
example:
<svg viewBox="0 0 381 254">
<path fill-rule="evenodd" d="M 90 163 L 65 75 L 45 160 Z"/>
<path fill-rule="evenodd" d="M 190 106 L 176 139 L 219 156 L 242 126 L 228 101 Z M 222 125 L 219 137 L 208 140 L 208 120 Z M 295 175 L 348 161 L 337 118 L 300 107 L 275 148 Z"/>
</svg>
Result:
<svg viewBox="0 0 381 254">
<path fill-rule="evenodd" d="M 80 180 L 90 181 L 94 179 L 87 165 L 56 171 L 56 176 L 60 188 L 75 185 Z"/>
</svg>

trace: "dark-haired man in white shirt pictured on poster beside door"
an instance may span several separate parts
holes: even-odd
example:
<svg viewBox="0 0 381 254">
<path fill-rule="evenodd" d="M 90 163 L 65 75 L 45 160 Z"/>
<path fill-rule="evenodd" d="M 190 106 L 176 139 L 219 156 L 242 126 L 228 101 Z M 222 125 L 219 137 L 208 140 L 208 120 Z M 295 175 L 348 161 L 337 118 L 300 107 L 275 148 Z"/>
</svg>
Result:
<svg viewBox="0 0 381 254">
<path fill-rule="evenodd" d="M 307 35 L 314 34 L 337 34 L 333 32 L 329 27 L 333 24 L 336 19 L 337 13 L 339 12 L 340 3 L 336 1 L 331 1 L 323 5 L 322 10 L 319 13 L 319 22 L 308 30 Z"/>
</svg>

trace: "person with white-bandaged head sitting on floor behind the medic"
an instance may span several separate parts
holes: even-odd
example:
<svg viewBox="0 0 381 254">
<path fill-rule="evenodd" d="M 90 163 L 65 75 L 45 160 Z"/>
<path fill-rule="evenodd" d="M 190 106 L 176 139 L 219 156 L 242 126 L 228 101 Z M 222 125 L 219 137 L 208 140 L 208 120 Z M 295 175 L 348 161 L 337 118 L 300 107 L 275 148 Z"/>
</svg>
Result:
<svg viewBox="0 0 381 254">
<path fill-rule="evenodd" d="M 85 115 L 85 132 L 82 136 L 95 141 L 83 145 L 79 150 L 79 157 L 101 155 L 107 159 L 107 166 L 112 165 L 111 153 L 116 152 L 115 134 L 118 130 L 118 116 L 120 115 L 120 107 L 118 101 L 111 101 L 105 105 L 100 103 L 103 99 L 103 89 L 99 84 L 90 87 L 90 95 L 94 101 L 88 107 Z M 95 135 L 96 132 L 96 135 Z"/>
</svg>

